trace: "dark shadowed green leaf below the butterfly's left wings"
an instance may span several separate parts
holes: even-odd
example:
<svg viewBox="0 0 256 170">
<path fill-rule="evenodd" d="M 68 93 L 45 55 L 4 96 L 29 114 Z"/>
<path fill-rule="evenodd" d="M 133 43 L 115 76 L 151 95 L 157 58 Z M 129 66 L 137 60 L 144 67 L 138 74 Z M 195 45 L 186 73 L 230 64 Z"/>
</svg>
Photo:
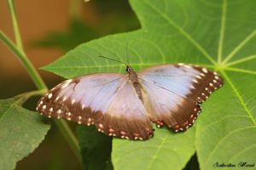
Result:
<svg viewBox="0 0 256 170">
<path fill-rule="evenodd" d="M 83 156 L 83 169 L 113 169 L 112 137 L 97 133 L 96 127 L 79 126 L 77 130 Z"/>
</svg>

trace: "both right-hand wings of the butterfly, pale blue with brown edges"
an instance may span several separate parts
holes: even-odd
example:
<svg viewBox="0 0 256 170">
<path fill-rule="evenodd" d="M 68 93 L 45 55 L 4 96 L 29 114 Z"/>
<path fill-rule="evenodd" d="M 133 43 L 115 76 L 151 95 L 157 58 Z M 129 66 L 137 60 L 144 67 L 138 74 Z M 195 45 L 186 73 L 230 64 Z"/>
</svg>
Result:
<svg viewBox="0 0 256 170">
<path fill-rule="evenodd" d="M 138 74 L 146 109 L 153 122 L 175 132 L 191 126 L 201 103 L 223 84 L 214 71 L 196 65 L 157 65 Z"/>
</svg>

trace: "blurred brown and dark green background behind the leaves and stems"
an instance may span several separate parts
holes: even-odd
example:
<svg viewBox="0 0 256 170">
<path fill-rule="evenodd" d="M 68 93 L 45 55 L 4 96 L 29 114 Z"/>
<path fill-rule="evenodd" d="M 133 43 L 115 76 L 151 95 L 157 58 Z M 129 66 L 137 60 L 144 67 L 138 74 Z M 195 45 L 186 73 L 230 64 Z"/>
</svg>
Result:
<svg viewBox="0 0 256 170">
<path fill-rule="evenodd" d="M 15 6 L 26 54 L 36 68 L 53 62 L 82 42 L 140 28 L 126 0 L 91 0 L 89 3 L 23 0 L 15 1 Z M 6 1 L 0 2 L 0 23 L 0 29 L 14 40 Z M 3 43 L 0 43 L 0 61 L 0 99 L 36 89 L 20 62 Z M 39 72 L 49 88 L 63 80 L 52 73 Z M 38 98 L 29 99 L 25 107 L 34 111 Z M 69 123 L 75 130 L 76 124 Z M 44 142 L 19 161 L 16 169 L 82 168 L 54 123 L 52 125 Z"/>
</svg>

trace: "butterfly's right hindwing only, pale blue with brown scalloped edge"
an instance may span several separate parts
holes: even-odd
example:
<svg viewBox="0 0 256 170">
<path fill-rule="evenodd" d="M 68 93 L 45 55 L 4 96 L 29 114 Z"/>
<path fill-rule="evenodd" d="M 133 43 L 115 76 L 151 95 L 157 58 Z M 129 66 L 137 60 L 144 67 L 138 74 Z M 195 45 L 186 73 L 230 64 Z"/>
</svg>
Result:
<svg viewBox="0 0 256 170">
<path fill-rule="evenodd" d="M 194 100 L 186 99 L 151 82 L 142 81 L 142 85 L 149 92 L 147 96 L 150 101 L 146 107 L 157 127 L 166 124 L 167 127 L 174 129 L 178 125 L 174 130 L 183 130 L 192 124 L 196 114 L 201 111 L 200 105 Z"/>
</svg>

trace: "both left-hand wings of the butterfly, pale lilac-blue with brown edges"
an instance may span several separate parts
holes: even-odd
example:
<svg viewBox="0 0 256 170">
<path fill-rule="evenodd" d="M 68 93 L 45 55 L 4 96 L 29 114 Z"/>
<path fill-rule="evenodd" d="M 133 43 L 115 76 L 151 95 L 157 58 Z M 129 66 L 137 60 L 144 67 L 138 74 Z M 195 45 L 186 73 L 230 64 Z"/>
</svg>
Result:
<svg viewBox="0 0 256 170">
<path fill-rule="evenodd" d="M 95 124 L 99 131 L 125 139 L 148 139 L 150 120 L 128 77 L 102 73 L 67 80 L 39 101 L 44 116 Z"/>
</svg>

